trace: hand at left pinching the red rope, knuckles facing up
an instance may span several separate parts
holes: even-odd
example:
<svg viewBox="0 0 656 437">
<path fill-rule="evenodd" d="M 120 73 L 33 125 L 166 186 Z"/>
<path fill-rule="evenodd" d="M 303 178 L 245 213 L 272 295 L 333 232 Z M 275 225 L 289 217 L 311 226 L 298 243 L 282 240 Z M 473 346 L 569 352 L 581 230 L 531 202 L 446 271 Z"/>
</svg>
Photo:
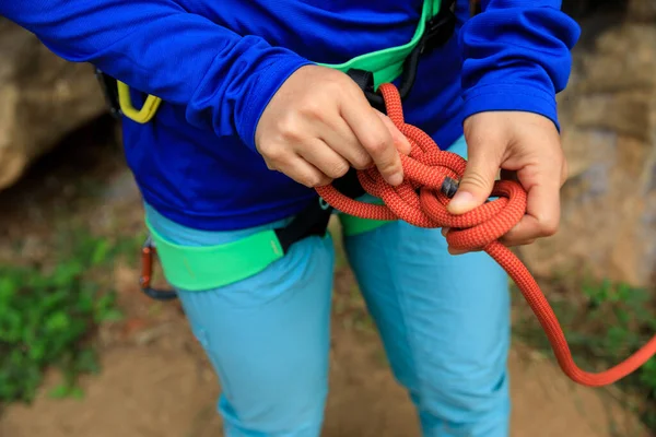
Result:
<svg viewBox="0 0 656 437">
<path fill-rule="evenodd" d="M 347 74 L 305 66 L 282 84 L 265 108 L 255 132 L 267 167 L 307 187 L 330 184 L 356 169 L 376 165 L 385 180 L 403 180 L 399 152 L 408 139 L 374 109 Z"/>
</svg>

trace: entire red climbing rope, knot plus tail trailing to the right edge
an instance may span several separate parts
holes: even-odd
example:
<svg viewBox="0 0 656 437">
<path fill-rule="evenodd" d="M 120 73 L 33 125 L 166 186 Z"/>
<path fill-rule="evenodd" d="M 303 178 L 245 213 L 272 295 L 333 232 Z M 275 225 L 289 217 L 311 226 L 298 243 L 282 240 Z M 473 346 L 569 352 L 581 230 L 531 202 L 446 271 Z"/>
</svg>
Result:
<svg viewBox="0 0 656 437">
<path fill-rule="evenodd" d="M 509 274 L 540 321 L 558 363 L 573 381 L 588 387 L 613 383 L 633 373 L 656 354 L 656 335 L 624 362 L 608 370 L 594 374 L 582 370 L 572 353 L 560 323 L 542 294 L 538 283 L 526 265 L 497 239 L 506 234 L 526 211 L 527 194 L 516 181 L 497 180 L 492 196 L 497 197 L 473 211 L 461 215 L 446 210 L 449 197 L 444 187 L 458 180 L 465 173 L 466 161 L 459 155 L 441 151 L 437 144 L 421 129 L 403 121 L 401 98 L 397 87 L 385 83 L 379 86 L 387 115 L 412 146 L 410 155 L 401 154 L 405 181 L 393 187 L 373 167 L 358 173 L 362 187 L 385 204 L 355 201 L 339 192 L 331 185 L 317 187 L 319 196 L 335 209 L 362 218 L 401 218 L 420 227 L 449 227 L 446 238 L 456 249 L 488 252 Z M 419 190 L 419 194 L 418 194 Z"/>
</svg>

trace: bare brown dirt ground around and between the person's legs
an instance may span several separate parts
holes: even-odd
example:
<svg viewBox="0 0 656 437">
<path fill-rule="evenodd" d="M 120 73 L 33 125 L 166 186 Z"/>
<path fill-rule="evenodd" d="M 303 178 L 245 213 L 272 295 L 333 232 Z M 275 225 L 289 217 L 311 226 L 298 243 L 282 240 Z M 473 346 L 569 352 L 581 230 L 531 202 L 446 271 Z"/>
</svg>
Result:
<svg viewBox="0 0 656 437">
<path fill-rule="evenodd" d="M 131 280 L 130 272 L 122 274 L 124 281 Z M 132 292 L 136 295 L 137 291 Z M 10 408 L 0 418 L 0 435 L 223 435 L 221 418 L 215 413 L 216 379 L 184 318 L 173 307 L 172 304 L 161 308 L 166 316 L 161 315 L 155 323 L 126 328 L 131 331 L 129 340 L 104 351 L 102 374 L 84 378 L 83 400 L 52 400 L 42 395 L 31 408 Z M 420 436 L 412 405 L 385 365 L 376 335 L 344 326 L 343 319 L 336 321 L 324 435 Z M 512 436 L 646 435 L 601 391 L 575 387 L 550 361 L 522 345 L 514 347 L 509 367 L 514 403 Z M 44 392 L 55 380 L 50 378 Z"/>
</svg>

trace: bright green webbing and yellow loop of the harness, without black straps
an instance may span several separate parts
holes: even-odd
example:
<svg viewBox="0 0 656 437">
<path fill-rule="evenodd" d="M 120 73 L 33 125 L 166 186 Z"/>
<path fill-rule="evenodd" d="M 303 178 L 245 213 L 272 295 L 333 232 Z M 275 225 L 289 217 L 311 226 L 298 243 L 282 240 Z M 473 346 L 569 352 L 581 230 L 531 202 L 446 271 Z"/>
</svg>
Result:
<svg viewBox="0 0 656 437">
<path fill-rule="evenodd" d="M 426 29 L 430 19 L 440 12 L 441 0 L 425 0 L 422 17 L 412 39 L 397 47 L 373 51 L 355 57 L 340 64 L 321 64 L 347 72 L 351 69 L 370 71 L 374 76 L 374 88 L 385 82 L 393 82 L 402 73 L 403 62 L 415 48 Z M 147 122 L 156 111 L 160 101 L 149 96 L 147 102 L 154 107 L 143 107 L 139 110 L 131 107 L 129 99 L 120 98 L 128 95 L 127 85 L 120 84 L 120 107 L 124 116 L 131 118 L 137 114 L 138 122 Z M 148 117 L 144 116 L 148 114 Z M 379 202 L 379 199 L 372 200 Z M 389 222 L 364 220 L 338 213 L 344 235 L 356 235 L 375 229 Z M 202 291 L 227 285 L 266 269 L 271 262 L 282 258 L 284 252 L 273 231 L 263 231 L 246 238 L 220 246 L 187 247 L 167 241 L 159 235 L 148 222 L 160 262 L 166 281 L 174 287 L 187 291 Z"/>
</svg>

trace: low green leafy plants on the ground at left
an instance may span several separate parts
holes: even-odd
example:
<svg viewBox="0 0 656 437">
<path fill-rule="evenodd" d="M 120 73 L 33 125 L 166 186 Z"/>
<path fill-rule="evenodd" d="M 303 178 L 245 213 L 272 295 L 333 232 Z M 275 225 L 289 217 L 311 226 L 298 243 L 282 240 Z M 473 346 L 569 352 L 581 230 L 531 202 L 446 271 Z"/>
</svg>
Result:
<svg viewBox="0 0 656 437">
<path fill-rule="evenodd" d="M 50 366 L 63 376 L 51 394 L 80 397 L 77 377 L 98 370 L 95 329 L 121 317 L 115 294 L 91 274 L 112 247 L 85 234 L 60 237 L 51 268 L 0 267 L 0 404 L 31 402 Z"/>
</svg>

